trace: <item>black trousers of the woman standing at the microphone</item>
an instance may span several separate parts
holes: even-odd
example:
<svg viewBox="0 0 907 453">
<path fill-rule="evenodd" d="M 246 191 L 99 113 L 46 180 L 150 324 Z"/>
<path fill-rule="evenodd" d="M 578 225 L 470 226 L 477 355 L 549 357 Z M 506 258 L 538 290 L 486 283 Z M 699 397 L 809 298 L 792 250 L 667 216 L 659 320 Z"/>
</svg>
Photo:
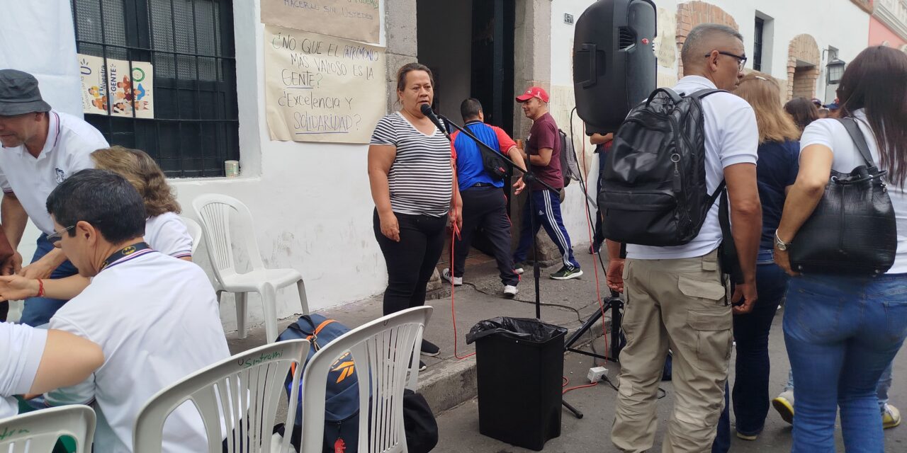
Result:
<svg viewBox="0 0 907 453">
<path fill-rule="evenodd" d="M 414 216 L 395 213 L 400 224 L 400 242 L 381 234 L 381 220 L 375 210 L 373 223 L 378 246 L 385 255 L 387 289 L 385 314 L 425 304 L 425 285 L 432 278 L 444 249 L 447 216 Z"/>
</svg>

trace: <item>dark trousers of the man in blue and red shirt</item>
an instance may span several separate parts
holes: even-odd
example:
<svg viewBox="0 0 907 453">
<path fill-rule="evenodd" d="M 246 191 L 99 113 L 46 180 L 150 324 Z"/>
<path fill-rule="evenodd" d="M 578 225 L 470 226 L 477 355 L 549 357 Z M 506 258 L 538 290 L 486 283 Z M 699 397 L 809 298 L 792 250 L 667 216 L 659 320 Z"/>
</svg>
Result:
<svg viewBox="0 0 907 453">
<path fill-rule="evenodd" d="M 507 217 L 507 198 L 500 188 L 467 188 L 460 192 L 463 198 L 463 229 L 460 239 L 453 244 L 453 276 L 462 277 L 466 256 L 473 244 L 473 236 L 482 228 L 493 248 L 494 260 L 502 284 L 520 283 L 520 275 L 513 272 L 511 255 L 511 221 Z"/>
</svg>

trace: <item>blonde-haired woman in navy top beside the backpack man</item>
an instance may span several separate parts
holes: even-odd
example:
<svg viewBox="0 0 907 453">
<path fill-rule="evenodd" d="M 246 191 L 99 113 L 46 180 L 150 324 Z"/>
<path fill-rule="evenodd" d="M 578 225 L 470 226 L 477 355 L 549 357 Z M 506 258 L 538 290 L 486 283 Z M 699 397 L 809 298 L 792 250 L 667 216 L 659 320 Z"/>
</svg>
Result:
<svg viewBox="0 0 907 453">
<path fill-rule="evenodd" d="M 781 90 L 768 75 L 761 72 L 746 74 L 734 94 L 753 107 L 759 129 L 759 163 L 756 166 L 756 183 L 762 200 L 762 238 L 756 260 L 759 299 L 752 312 L 734 315 L 736 375 L 732 390 L 736 436 L 755 440 L 765 427 L 768 415 L 768 333 L 788 280 L 784 271 L 775 265 L 772 248 L 775 228 L 785 206 L 786 190 L 796 178 L 800 154 L 796 140 L 800 131 L 781 107 Z"/>
</svg>

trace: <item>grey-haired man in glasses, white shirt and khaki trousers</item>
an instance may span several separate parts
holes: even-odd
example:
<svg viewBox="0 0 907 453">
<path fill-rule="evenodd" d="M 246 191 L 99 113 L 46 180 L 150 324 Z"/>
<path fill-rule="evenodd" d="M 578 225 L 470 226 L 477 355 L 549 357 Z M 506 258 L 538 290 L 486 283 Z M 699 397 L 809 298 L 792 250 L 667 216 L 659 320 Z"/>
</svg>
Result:
<svg viewBox="0 0 907 453">
<path fill-rule="evenodd" d="M 734 29 L 702 24 L 681 50 L 684 75 L 674 91 L 732 91 L 743 77 L 743 37 Z M 742 98 L 716 92 L 702 98 L 705 170 L 708 193 L 722 179 L 733 237 L 723 237 L 718 203 L 708 211 L 698 236 L 684 246 L 627 246 L 608 240 L 608 285 L 626 294 L 620 352 L 618 403 L 611 441 L 621 451 L 652 448 L 658 415 L 656 400 L 662 366 L 673 352 L 674 411 L 663 452 L 703 452 L 712 448 L 725 401 L 733 336 L 732 313 L 756 303 L 756 253 L 762 234 L 762 209 L 756 187 L 756 114 Z M 734 241 L 743 275 L 731 300 L 717 249 Z M 731 304 L 734 306 L 732 307 Z"/>
</svg>

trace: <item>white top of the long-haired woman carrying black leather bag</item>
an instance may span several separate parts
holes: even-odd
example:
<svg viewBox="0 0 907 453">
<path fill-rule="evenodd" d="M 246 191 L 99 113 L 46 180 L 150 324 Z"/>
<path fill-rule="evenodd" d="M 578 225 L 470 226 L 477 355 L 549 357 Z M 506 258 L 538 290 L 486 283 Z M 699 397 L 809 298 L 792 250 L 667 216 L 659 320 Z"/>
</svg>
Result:
<svg viewBox="0 0 907 453">
<path fill-rule="evenodd" d="M 863 109 L 853 112 L 856 123 L 863 131 L 863 138 L 866 139 L 866 146 L 869 148 L 870 155 L 873 156 L 875 165 L 879 165 L 879 146 L 876 143 L 873 130 L 869 127 L 866 120 L 866 112 Z M 832 160 L 832 169 L 842 173 L 850 173 L 854 168 L 866 165 L 860 151 L 853 144 L 853 139 L 841 121 L 834 119 L 814 120 L 803 131 L 803 137 L 800 138 L 800 149 L 803 150 L 810 145 L 824 145 L 832 149 L 834 160 Z M 898 184 L 888 185 L 888 196 L 892 198 L 894 207 L 894 217 L 898 227 L 898 249 L 894 255 L 894 265 L 886 274 L 904 274 L 907 273 L 907 193 L 904 188 Z"/>
</svg>

